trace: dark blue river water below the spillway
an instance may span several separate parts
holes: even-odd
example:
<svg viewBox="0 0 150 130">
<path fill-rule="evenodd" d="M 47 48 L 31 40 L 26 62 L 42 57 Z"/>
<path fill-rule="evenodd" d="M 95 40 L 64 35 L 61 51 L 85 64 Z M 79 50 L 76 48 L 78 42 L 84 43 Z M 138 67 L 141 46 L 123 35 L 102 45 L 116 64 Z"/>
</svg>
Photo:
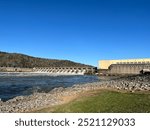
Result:
<svg viewBox="0 0 150 130">
<path fill-rule="evenodd" d="M 21 95 L 30 95 L 34 92 L 49 92 L 56 87 L 71 87 L 74 84 L 83 84 L 98 81 L 96 76 L 49 76 L 31 74 L 0 73 L 0 99 L 7 101 Z"/>
</svg>

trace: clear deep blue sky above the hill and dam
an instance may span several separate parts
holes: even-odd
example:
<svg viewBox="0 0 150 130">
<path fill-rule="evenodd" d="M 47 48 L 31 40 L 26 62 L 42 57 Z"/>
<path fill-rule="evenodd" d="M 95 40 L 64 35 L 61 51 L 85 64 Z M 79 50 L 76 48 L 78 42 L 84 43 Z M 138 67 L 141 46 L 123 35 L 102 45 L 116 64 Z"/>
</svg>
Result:
<svg viewBox="0 0 150 130">
<path fill-rule="evenodd" d="M 0 0 L 0 51 L 97 66 L 150 57 L 150 0 Z"/>
</svg>

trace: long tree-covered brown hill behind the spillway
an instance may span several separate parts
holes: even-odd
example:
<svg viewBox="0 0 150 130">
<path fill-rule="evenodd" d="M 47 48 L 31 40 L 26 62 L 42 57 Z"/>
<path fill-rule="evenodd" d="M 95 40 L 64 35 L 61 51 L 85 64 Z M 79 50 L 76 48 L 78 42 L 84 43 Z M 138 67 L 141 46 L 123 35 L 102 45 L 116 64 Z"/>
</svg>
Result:
<svg viewBox="0 0 150 130">
<path fill-rule="evenodd" d="M 33 68 L 33 67 L 89 67 L 89 66 L 72 62 L 69 60 L 44 59 L 24 54 L 7 53 L 0 51 L 0 67 Z"/>
</svg>

